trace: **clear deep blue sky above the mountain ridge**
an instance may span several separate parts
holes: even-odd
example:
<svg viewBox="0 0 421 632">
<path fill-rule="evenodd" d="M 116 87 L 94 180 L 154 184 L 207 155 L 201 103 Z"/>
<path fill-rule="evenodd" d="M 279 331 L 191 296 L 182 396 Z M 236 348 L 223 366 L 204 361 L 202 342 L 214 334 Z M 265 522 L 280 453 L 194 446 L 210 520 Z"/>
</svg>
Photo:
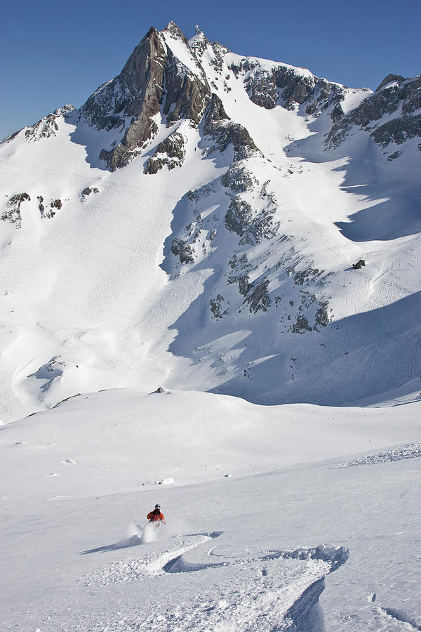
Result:
<svg viewBox="0 0 421 632">
<path fill-rule="evenodd" d="M 421 73 L 421 0 L 255 0 L 206 3 L 4 0 L 0 138 L 55 107 L 79 107 L 118 74 L 150 26 L 199 24 L 235 53 L 309 68 L 375 89 L 389 73 Z"/>
</svg>

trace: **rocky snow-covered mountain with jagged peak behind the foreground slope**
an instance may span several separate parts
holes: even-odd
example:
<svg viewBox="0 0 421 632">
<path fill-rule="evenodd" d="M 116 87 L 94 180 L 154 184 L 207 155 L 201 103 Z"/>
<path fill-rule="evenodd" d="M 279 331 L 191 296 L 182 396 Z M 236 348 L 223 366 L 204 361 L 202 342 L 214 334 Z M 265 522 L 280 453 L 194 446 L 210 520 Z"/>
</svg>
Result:
<svg viewBox="0 0 421 632">
<path fill-rule="evenodd" d="M 0 145 L 1 420 L 121 386 L 414 400 L 420 136 L 421 77 L 373 93 L 149 29 Z"/>
</svg>

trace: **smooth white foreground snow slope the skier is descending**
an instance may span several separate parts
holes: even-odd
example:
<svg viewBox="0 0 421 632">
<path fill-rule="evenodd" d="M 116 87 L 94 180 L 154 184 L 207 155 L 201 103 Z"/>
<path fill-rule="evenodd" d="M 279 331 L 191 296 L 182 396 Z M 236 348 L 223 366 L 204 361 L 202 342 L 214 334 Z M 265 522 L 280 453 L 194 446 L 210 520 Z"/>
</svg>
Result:
<svg viewBox="0 0 421 632">
<path fill-rule="evenodd" d="M 419 629 L 419 449 L 335 467 L 419 407 L 121 389 L 4 426 L 1 628 Z"/>
</svg>

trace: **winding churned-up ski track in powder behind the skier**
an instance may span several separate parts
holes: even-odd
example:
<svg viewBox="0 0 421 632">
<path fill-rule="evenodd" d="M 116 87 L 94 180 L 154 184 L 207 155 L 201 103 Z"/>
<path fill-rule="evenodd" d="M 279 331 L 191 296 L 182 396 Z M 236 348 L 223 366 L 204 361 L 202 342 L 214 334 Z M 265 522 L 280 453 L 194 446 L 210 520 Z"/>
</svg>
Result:
<svg viewBox="0 0 421 632">
<path fill-rule="evenodd" d="M 324 577 L 345 563 L 349 555 L 346 548 L 320 545 L 255 552 L 217 544 L 206 549 L 205 545 L 221 534 L 178 536 L 173 545 L 163 551 L 102 565 L 81 580 L 85 586 L 166 581 L 165 588 L 162 587 L 168 595 L 165 605 L 151 607 L 147 598 L 140 598 L 142 606 L 131 612 L 123 609 L 102 612 L 99 619 L 77 624 L 72 631 L 316 632 L 323 629 L 318 600 Z M 189 562 L 185 554 L 192 549 L 196 549 L 201 560 L 205 557 L 206 562 Z M 215 558 L 220 561 L 213 562 Z M 168 591 L 168 581 L 178 584 L 178 574 L 191 572 L 194 572 L 194 581 L 187 594 L 184 586 L 181 599 L 177 597 L 175 586 Z M 212 588 L 215 585 L 218 586 L 216 593 Z M 193 597 L 189 594 L 192 591 Z M 152 593 L 157 592 L 161 592 L 159 584 L 154 584 Z"/>
</svg>

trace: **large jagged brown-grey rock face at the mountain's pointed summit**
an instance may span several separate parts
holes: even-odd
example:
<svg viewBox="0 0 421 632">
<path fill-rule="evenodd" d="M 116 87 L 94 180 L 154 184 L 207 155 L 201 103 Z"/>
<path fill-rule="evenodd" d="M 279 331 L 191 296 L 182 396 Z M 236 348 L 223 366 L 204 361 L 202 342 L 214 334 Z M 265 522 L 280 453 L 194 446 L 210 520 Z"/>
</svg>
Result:
<svg viewBox="0 0 421 632">
<path fill-rule="evenodd" d="M 174 22 L 167 25 L 165 32 L 188 44 Z M 190 119 L 197 125 L 209 100 L 210 88 L 203 71 L 200 77 L 193 74 L 152 27 L 119 76 L 88 98 L 81 107 L 81 116 L 98 130 L 121 131 L 120 142 L 100 152 L 100 159 L 115 171 L 131 162 L 140 147 L 154 136 L 157 128 L 152 117 L 160 112 L 161 105 L 168 126 L 179 119 Z"/>
</svg>

